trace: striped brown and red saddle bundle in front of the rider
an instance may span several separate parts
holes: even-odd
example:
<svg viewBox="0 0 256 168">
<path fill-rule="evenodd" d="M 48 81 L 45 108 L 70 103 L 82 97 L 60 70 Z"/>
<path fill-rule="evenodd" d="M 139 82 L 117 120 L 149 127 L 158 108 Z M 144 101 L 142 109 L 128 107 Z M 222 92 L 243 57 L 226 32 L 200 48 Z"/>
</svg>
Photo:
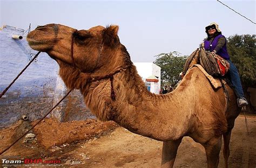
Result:
<svg viewBox="0 0 256 168">
<path fill-rule="evenodd" d="M 227 60 L 217 54 L 205 51 L 203 48 L 200 48 L 200 50 L 197 48 L 187 58 L 183 72 L 187 72 L 188 68 L 194 64 L 200 64 L 212 76 L 224 76 L 228 72 L 228 69 L 230 69 L 230 64 Z"/>
</svg>

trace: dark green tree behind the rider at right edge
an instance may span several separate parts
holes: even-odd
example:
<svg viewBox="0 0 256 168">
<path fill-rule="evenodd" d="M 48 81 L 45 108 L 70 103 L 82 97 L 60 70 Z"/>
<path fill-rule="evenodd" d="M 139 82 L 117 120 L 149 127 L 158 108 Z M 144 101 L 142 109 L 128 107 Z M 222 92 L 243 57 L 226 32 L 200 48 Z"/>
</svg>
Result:
<svg viewBox="0 0 256 168">
<path fill-rule="evenodd" d="M 255 45 L 255 34 L 235 34 L 227 38 L 228 53 L 231 61 L 237 66 L 242 85 L 245 87 L 256 87 Z"/>
</svg>

